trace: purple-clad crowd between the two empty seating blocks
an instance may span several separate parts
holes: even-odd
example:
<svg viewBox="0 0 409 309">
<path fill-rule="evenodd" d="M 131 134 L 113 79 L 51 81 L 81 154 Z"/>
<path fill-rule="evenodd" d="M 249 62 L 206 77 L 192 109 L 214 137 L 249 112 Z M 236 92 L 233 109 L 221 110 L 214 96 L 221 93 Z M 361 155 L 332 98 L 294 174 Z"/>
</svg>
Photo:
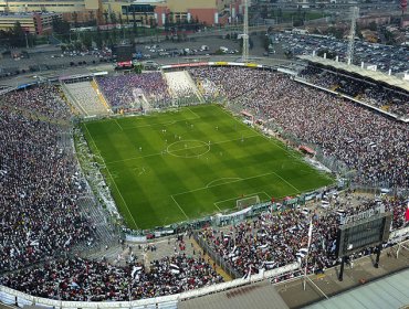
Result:
<svg viewBox="0 0 409 309">
<path fill-rule="evenodd" d="M 113 110 L 143 109 L 146 99 L 153 107 L 169 104 L 170 95 L 160 72 L 99 76 L 96 78 Z"/>
</svg>

